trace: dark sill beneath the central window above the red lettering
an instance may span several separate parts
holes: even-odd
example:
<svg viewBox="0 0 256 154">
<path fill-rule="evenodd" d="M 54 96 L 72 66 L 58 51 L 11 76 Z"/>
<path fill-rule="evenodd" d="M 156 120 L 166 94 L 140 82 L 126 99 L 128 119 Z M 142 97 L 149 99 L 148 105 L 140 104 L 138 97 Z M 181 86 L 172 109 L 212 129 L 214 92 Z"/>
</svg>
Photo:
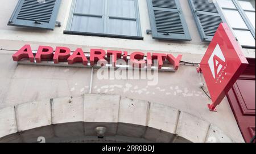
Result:
<svg viewBox="0 0 256 154">
<path fill-rule="evenodd" d="M 89 33 L 89 32 L 77 32 L 77 31 L 64 31 L 63 33 L 68 35 L 100 36 L 100 37 L 110 37 L 110 38 L 124 38 L 124 39 L 130 39 L 130 40 L 143 40 L 142 36 L 112 35 L 112 34 L 104 34 L 104 33 Z"/>
</svg>

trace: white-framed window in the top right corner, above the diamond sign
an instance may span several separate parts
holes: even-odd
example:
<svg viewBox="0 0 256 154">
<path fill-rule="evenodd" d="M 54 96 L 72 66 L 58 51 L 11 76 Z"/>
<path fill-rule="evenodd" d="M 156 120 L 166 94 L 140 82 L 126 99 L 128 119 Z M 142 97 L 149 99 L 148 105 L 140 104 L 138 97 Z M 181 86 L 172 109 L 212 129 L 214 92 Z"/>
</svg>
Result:
<svg viewBox="0 0 256 154">
<path fill-rule="evenodd" d="M 217 2 L 240 44 L 255 48 L 255 0 Z"/>
</svg>

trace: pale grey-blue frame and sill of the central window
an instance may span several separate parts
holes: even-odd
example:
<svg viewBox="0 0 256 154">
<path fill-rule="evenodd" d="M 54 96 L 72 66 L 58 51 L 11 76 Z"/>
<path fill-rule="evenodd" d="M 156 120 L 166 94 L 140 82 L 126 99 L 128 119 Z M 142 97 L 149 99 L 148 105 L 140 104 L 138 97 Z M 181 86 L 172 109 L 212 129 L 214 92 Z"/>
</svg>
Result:
<svg viewBox="0 0 256 154">
<path fill-rule="evenodd" d="M 66 30 L 63 32 L 64 34 L 69 35 L 84 35 L 84 36 L 100 36 L 100 37 L 111 37 L 111 38 L 125 38 L 125 39 L 131 39 L 131 40 L 143 40 L 142 37 L 142 31 L 141 31 L 141 20 L 139 16 L 139 4 L 138 0 L 134 0 L 135 3 L 135 18 L 125 18 L 125 17 L 117 17 L 117 16 L 110 16 L 109 15 L 109 0 L 104 0 L 104 10 L 102 14 L 102 22 L 104 23 L 104 32 L 103 33 L 94 33 L 94 32 L 80 32 L 80 31 L 71 31 L 71 24 L 73 20 L 73 16 L 77 13 L 75 12 L 76 2 L 77 0 L 72 1 L 71 5 L 71 11 L 69 11 L 69 18 Z M 95 15 L 89 15 L 89 14 L 80 14 L 81 16 L 95 16 Z M 127 36 L 127 35 L 115 35 L 106 33 L 106 29 L 108 28 L 108 20 L 109 19 L 124 19 L 124 20 L 133 20 L 136 21 L 137 25 L 137 36 Z"/>
</svg>

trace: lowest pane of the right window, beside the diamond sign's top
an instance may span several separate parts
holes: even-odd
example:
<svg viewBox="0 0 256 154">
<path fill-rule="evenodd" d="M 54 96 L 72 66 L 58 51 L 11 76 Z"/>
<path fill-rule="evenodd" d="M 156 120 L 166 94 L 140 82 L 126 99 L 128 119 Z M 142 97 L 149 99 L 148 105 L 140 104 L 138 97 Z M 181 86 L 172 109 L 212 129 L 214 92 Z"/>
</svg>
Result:
<svg viewBox="0 0 256 154">
<path fill-rule="evenodd" d="M 255 39 L 250 31 L 234 30 L 234 33 L 241 45 L 255 46 Z"/>
</svg>

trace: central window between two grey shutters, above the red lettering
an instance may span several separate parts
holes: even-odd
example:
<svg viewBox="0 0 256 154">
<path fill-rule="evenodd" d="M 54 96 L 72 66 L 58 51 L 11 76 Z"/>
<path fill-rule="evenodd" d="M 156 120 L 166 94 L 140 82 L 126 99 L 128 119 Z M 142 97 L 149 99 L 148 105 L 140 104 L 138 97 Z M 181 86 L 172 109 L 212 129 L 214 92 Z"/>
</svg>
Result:
<svg viewBox="0 0 256 154">
<path fill-rule="evenodd" d="M 64 33 L 142 40 L 138 0 L 73 1 Z"/>
</svg>

